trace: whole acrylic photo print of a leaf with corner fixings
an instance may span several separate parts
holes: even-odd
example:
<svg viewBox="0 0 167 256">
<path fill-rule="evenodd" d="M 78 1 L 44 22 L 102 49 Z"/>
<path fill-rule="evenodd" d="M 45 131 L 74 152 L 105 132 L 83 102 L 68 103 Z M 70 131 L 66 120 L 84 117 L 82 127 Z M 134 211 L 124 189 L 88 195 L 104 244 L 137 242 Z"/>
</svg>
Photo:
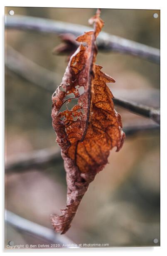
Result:
<svg viewBox="0 0 167 256">
<path fill-rule="evenodd" d="M 160 246 L 160 10 L 5 15 L 5 248 Z"/>
</svg>

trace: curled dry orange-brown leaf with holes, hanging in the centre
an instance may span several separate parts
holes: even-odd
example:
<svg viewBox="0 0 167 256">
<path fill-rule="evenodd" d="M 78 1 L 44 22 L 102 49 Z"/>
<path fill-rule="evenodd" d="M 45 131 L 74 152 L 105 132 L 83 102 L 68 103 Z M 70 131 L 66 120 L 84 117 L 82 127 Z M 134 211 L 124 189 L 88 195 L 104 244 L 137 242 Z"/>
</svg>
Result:
<svg viewBox="0 0 167 256">
<path fill-rule="evenodd" d="M 71 56 L 61 85 L 52 96 L 53 128 L 61 147 L 67 182 L 66 209 L 62 215 L 52 215 L 56 232 L 61 234 L 71 226 L 78 206 L 88 185 L 108 162 L 113 147 L 122 147 L 125 134 L 121 117 L 114 110 L 113 95 L 106 83 L 115 80 L 95 64 L 98 36 L 103 21 L 97 10 L 89 22 L 94 30 L 77 37 L 80 46 Z M 71 97 L 71 94 L 73 95 Z M 69 110 L 71 100 L 78 100 Z M 66 110 L 61 112 L 61 107 Z"/>
</svg>

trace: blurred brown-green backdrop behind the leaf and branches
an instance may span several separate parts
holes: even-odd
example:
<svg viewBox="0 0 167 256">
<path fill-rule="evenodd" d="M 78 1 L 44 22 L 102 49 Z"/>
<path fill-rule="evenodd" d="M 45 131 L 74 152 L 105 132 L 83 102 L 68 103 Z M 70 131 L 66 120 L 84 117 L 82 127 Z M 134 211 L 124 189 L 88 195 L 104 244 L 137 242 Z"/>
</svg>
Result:
<svg viewBox="0 0 167 256">
<path fill-rule="evenodd" d="M 11 7 L 6 8 L 6 15 Z M 28 15 L 88 25 L 96 9 L 12 7 L 15 15 Z M 153 18 L 158 13 L 157 19 Z M 102 9 L 103 31 L 152 47 L 160 47 L 159 10 Z M 53 71 L 53 92 L 61 83 L 66 56 L 53 55 L 61 42 L 56 34 L 6 30 L 6 44 L 27 59 Z M 130 55 L 98 52 L 97 64 L 113 76 L 108 84 L 115 97 L 149 106 L 160 104 L 160 66 Z M 6 158 L 17 160 L 32 150 L 58 147 L 52 128 L 52 92 L 35 86 L 6 69 Z M 115 106 L 123 126 L 154 124 Z M 76 244 L 108 243 L 110 246 L 160 245 L 160 134 L 159 131 L 127 136 L 119 153 L 111 151 L 109 164 L 90 184 L 71 229 L 66 233 Z M 63 161 L 6 175 L 6 208 L 52 229 L 50 214 L 66 204 Z M 63 236 L 63 235 L 62 235 Z M 7 225 L 7 241 L 38 244 L 35 237 L 20 234 Z"/>
</svg>

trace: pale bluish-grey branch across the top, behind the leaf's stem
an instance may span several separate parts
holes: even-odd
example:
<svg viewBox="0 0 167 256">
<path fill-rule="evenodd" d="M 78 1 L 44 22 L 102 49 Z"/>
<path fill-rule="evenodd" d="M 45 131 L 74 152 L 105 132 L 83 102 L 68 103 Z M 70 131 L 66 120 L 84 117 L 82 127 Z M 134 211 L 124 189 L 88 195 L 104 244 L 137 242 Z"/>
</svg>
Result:
<svg viewBox="0 0 167 256">
<path fill-rule="evenodd" d="M 92 30 L 92 27 L 86 27 L 83 25 L 21 15 L 7 15 L 6 28 L 17 30 L 33 30 L 56 34 L 71 33 L 75 36 L 79 36 L 85 31 Z M 148 61 L 152 61 L 158 64 L 160 63 L 159 49 L 122 37 L 110 35 L 106 32 L 100 33 L 97 38 L 97 45 L 100 50 L 131 54 L 147 59 Z"/>
</svg>

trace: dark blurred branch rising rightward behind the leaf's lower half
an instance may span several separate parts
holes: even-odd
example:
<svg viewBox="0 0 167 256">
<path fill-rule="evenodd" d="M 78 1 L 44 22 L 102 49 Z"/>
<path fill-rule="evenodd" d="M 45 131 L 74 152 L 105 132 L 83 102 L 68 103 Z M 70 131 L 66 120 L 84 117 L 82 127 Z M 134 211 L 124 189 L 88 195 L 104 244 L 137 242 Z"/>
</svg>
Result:
<svg viewBox="0 0 167 256">
<path fill-rule="evenodd" d="M 158 125 L 136 125 L 123 128 L 126 137 L 136 135 L 137 133 L 159 131 Z M 46 148 L 42 150 L 35 150 L 31 153 L 24 153 L 15 155 L 6 161 L 6 173 L 22 172 L 22 170 L 29 170 L 32 168 L 43 168 L 50 164 L 57 164 L 63 162 L 61 158 L 60 148 Z"/>
</svg>

